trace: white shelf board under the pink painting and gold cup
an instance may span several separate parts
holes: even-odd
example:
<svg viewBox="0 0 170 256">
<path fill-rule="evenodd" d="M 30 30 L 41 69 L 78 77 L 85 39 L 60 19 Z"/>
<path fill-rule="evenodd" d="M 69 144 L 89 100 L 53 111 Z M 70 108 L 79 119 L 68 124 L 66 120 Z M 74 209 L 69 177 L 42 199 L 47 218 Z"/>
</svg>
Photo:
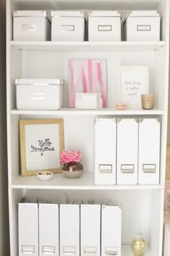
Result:
<svg viewBox="0 0 170 256">
<path fill-rule="evenodd" d="M 61 108 L 60 110 L 17 110 L 11 111 L 12 115 L 163 115 L 164 111 L 158 109 L 138 109 L 128 108 L 125 110 L 117 110 L 115 108 L 102 109 L 76 109 L 76 108 Z"/>
</svg>

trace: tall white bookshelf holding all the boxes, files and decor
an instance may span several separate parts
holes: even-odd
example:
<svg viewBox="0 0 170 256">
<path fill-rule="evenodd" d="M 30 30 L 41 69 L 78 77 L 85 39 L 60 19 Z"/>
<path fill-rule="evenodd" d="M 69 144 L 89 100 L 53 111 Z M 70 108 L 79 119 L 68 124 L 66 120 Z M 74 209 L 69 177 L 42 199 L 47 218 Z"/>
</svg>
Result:
<svg viewBox="0 0 170 256">
<path fill-rule="evenodd" d="M 161 11 L 161 41 L 158 42 L 33 42 L 12 40 L 12 11 L 17 9 L 158 9 Z M 68 108 L 68 59 L 107 59 L 108 108 Z M 148 66 L 150 92 L 156 95 L 154 110 L 117 111 L 117 66 Z M 59 111 L 17 110 L 16 78 L 58 78 L 65 81 Z M 23 196 L 62 200 L 112 199 L 122 204 L 122 256 L 133 256 L 130 242 L 135 229 L 143 229 L 148 242 L 146 256 L 161 256 L 164 218 L 164 177 L 169 85 L 169 0 L 6 0 L 6 92 L 9 176 L 9 226 L 11 256 L 18 256 L 17 205 Z M 95 185 L 94 119 L 97 116 L 161 117 L 160 184 Z M 66 149 L 83 152 L 84 174 L 66 179 L 54 174 L 50 182 L 36 176 L 21 176 L 19 120 L 63 118 Z M 80 129 L 81 127 L 81 129 Z M 127 245 L 125 245 L 127 244 Z M 36 255 L 37 256 L 37 255 Z"/>
</svg>

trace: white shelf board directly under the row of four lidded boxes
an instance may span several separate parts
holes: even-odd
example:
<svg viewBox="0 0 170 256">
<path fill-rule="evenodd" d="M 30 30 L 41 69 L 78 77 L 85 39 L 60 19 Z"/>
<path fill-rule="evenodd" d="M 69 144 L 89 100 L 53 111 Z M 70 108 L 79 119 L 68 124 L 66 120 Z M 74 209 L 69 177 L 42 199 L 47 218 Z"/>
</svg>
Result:
<svg viewBox="0 0 170 256">
<path fill-rule="evenodd" d="M 165 46 L 164 41 L 11 41 L 12 47 L 31 51 L 151 51 Z"/>
</svg>

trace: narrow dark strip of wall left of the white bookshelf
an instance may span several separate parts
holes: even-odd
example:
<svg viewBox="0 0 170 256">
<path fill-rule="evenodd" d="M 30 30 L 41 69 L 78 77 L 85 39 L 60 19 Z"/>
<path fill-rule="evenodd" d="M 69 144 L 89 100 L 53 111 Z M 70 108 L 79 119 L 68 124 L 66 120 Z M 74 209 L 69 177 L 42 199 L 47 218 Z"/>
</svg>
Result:
<svg viewBox="0 0 170 256">
<path fill-rule="evenodd" d="M 6 155 L 6 0 L 0 0 L 0 255 L 9 255 Z"/>
</svg>

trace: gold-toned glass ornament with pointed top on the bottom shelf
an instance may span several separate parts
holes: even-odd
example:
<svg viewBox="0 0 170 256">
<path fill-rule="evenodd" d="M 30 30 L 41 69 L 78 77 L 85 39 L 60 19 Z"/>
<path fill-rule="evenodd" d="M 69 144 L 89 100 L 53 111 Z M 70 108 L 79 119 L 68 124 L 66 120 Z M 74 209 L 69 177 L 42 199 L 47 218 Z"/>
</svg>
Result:
<svg viewBox="0 0 170 256">
<path fill-rule="evenodd" d="M 135 233 L 135 236 L 133 236 L 131 247 L 133 250 L 133 255 L 135 256 L 143 256 L 146 252 L 146 242 L 140 229 L 138 229 Z"/>
</svg>

